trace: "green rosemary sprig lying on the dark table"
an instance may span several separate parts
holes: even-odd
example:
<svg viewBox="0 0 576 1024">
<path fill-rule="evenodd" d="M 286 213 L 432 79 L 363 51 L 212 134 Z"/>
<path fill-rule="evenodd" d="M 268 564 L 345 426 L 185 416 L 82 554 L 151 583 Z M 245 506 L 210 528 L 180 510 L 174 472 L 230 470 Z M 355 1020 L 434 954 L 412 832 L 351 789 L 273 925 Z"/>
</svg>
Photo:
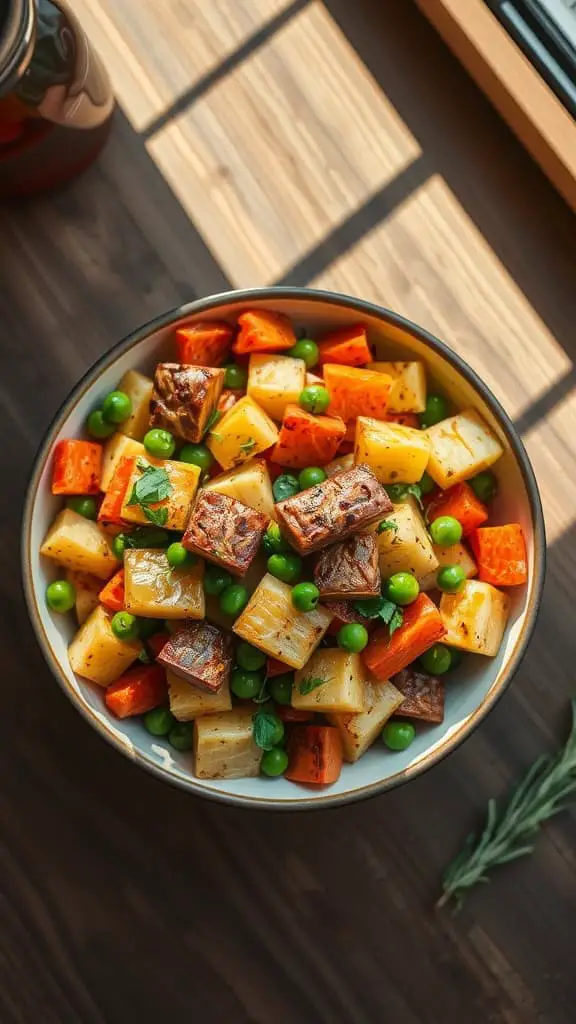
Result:
<svg viewBox="0 0 576 1024">
<path fill-rule="evenodd" d="M 575 792 L 576 698 L 572 700 L 572 727 L 565 745 L 556 754 L 538 758 L 501 809 L 495 800 L 489 801 L 484 830 L 480 837 L 474 833 L 468 836 L 449 865 L 437 906 L 454 899 L 459 908 L 472 886 L 490 881 L 488 871 L 532 853 L 540 826 L 564 811 Z"/>
</svg>

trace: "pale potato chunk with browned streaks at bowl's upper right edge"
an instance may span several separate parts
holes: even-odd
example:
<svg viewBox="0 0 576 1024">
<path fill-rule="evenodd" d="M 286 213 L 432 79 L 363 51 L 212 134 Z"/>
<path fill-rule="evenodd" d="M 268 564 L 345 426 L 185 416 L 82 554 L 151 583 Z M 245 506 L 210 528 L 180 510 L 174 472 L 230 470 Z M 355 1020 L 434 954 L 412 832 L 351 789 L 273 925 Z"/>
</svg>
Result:
<svg viewBox="0 0 576 1024">
<path fill-rule="evenodd" d="M 503 447 L 475 409 L 422 431 L 430 444 L 427 472 L 439 487 L 451 487 L 492 466 Z"/>
</svg>

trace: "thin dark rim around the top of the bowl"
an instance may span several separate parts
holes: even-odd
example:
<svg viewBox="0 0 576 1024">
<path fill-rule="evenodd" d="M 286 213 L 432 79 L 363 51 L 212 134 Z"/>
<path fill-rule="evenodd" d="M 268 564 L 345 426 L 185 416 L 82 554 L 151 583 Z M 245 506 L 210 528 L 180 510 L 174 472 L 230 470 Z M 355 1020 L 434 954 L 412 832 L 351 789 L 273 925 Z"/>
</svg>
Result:
<svg viewBox="0 0 576 1024">
<path fill-rule="evenodd" d="M 40 476 L 46 459 L 51 454 L 55 434 L 57 434 L 64 422 L 68 419 L 70 412 L 74 409 L 82 395 L 97 381 L 98 377 L 101 376 L 101 373 L 109 366 L 112 366 L 121 355 L 129 351 L 131 348 L 134 348 L 141 341 L 146 340 L 146 338 L 148 338 L 151 334 L 169 327 L 170 324 L 175 321 L 183 319 L 198 313 L 209 312 L 215 307 L 233 302 L 246 302 L 248 304 L 252 301 L 266 301 L 271 299 L 279 301 L 312 301 L 320 302 L 326 305 L 343 306 L 349 309 L 351 312 L 356 311 L 375 317 L 384 324 L 387 323 L 393 327 L 412 334 L 419 341 L 423 342 L 434 351 L 447 359 L 448 362 L 455 366 L 456 370 L 467 381 L 467 383 L 469 383 L 480 393 L 481 397 L 490 408 L 510 445 L 515 458 L 520 466 L 526 486 L 534 531 L 534 572 L 532 580 L 530 581 L 530 593 L 528 596 L 525 621 L 507 665 L 502 667 L 500 673 L 492 683 L 489 692 L 478 706 L 476 711 L 466 719 L 465 723 L 456 729 L 449 738 L 445 739 L 436 751 L 430 752 L 427 755 L 424 754 L 417 762 L 415 762 L 414 765 L 411 765 L 408 768 L 388 776 L 387 778 L 380 779 L 376 782 L 370 782 L 369 784 L 361 786 L 358 790 L 353 790 L 349 793 L 331 795 L 329 791 L 326 793 L 320 792 L 314 799 L 295 797 L 293 800 L 275 800 L 274 797 L 269 799 L 268 797 L 237 796 L 236 794 L 229 793 L 224 790 L 204 786 L 192 774 L 190 777 L 172 776 L 161 765 L 157 765 L 152 761 L 149 761 L 148 758 L 142 756 L 136 749 L 129 752 L 126 744 L 115 735 L 112 729 L 109 729 L 107 723 L 102 719 L 96 716 L 89 707 L 83 706 L 78 701 L 68 679 L 66 678 L 66 675 L 60 668 L 59 660 L 54 653 L 44 630 L 38 609 L 36 589 L 32 578 L 31 530 Z M 158 778 L 161 778 L 163 781 L 169 782 L 170 784 L 184 790 L 188 793 L 194 793 L 197 796 L 214 800 L 218 803 L 250 809 L 284 811 L 317 810 L 319 808 L 337 807 L 343 804 L 366 800 L 369 797 L 393 790 L 398 785 L 408 782 L 412 778 L 422 775 L 425 771 L 428 771 L 431 767 L 434 767 L 434 765 L 438 764 L 439 761 L 442 761 L 449 754 L 452 754 L 460 745 L 460 743 L 462 743 L 464 739 L 466 739 L 478 728 L 480 723 L 495 707 L 497 701 L 509 686 L 522 658 L 524 657 L 534 631 L 542 598 L 545 567 L 546 539 L 544 516 L 534 470 L 520 434 L 517 432 L 509 416 L 489 389 L 487 384 L 485 384 L 477 372 L 472 370 L 472 368 L 468 366 L 468 364 L 457 352 L 453 351 L 453 349 L 451 349 L 446 342 L 441 341 L 435 335 L 430 334 L 430 332 L 425 328 L 420 327 L 413 321 L 402 316 L 400 313 L 397 313 L 385 306 L 380 306 L 375 302 L 359 299 L 354 296 L 346 295 L 343 292 L 324 291 L 314 288 L 269 286 L 261 288 L 233 289 L 229 292 L 219 292 L 214 295 L 205 296 L 204 298 L 195 299 L 192 302 L 175 306 L 173 309 L 161 313 L 159 316 L 156 316 L 136 328 L 135 331 L 130 332 L 130 334 L 126 335 L 121 341 L 109 348 L 92 364 L 54 414 L 34 457 L 24 504 L 22 526 L 22 572 L 28 612 L 36 639 L 40 645 L 42 653 L 44 654 L 44 658 L 50 667 L 52 674 L 55 676 L 60 688 L 69 696 L 74 707 L 83 716 L 83 718 L 85 718 L 96 729 L 96 731 L 105 737 L 105 739 L 116 748 L 116 750 L 120 751 L 125 757 L 128 757 L 130 760 L 134 761 L 136 764 L 140 765 Z"/>
</svg>

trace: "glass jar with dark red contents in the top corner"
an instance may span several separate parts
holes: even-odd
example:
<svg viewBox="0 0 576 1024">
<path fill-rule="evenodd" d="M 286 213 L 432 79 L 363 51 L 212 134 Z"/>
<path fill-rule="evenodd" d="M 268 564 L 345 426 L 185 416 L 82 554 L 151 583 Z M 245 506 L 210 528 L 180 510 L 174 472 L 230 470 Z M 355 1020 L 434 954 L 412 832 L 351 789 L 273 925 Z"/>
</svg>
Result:
<svg viewBox="0 0 576 1024">
<path fill-rule="evenodd" d="M 0 199 L 85 170 L 113 112 L 110 79 L 69 0 L 0 0 Z"/>
</svg>

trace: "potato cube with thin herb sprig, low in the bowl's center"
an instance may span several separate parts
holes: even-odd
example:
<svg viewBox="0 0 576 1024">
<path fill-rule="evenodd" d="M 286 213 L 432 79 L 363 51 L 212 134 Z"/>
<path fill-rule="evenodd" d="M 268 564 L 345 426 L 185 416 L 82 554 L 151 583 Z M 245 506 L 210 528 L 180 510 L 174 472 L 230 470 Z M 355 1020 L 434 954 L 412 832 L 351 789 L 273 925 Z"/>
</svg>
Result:
<svg viewBox="0 0 576 1024">
<path fill-rule="evenodd" d="M 292 707 L 301 711 L 363 711 L 367 675 L 360 654 L 324 647 L 296 673 Z M 324 682 L 319 685 L 321 679 Z"/>
</svg>

